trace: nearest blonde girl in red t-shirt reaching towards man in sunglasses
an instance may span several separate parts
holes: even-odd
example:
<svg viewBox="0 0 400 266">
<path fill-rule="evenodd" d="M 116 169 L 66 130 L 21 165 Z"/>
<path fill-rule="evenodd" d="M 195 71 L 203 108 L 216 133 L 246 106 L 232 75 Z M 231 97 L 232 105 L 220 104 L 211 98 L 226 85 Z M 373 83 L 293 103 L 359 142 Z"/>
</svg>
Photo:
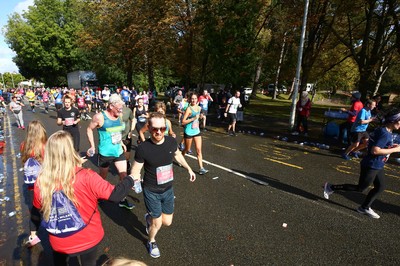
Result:
<svg viewBox="0 0 400 266">
<path fill-rule="evenodd" d="M 79 257 L 81 265 L 96 265 L 97 248 L 104 237 L 98 200 L 119 202 L 134 186 L 130 176 L 114 186 L 95 171 L 82 168 L 82 163 L 68 132 L 60 130 L 49 137 L 42 171 L 34 185 L 33 206 L 48 221 L 53 193 L 62 190 L 86 224 L 66 237 L 49 233 L 54 265 L 67 265 L 70 257 Z"/>
</svg>

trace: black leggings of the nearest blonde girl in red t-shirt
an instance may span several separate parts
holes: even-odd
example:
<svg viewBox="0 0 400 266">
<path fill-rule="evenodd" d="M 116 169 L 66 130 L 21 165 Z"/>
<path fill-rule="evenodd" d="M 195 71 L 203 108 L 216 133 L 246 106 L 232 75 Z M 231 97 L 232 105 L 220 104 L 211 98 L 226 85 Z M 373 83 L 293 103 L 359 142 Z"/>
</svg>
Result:
<svg viewBox="0 0 400 266">
<path fill-rule="evenodd" d="M 95 266 L 96 265 L 96 260 L 97 260 L 97 247 L 99 244 L 97 244 L 96 246 L 79 252 L 79 253 L 75 253 L 75 254 L 64 254 L 64 253 L 60 253 L 57 251 L 53 250 L 53 261 L 54 261 L 54 265 L 57 266 L 67 266 L 69 265 L 69 260 L 71 258 L 74 257 L 79 257 L 80 260 L 80 264 L 82 266 Z"/>
</svg>

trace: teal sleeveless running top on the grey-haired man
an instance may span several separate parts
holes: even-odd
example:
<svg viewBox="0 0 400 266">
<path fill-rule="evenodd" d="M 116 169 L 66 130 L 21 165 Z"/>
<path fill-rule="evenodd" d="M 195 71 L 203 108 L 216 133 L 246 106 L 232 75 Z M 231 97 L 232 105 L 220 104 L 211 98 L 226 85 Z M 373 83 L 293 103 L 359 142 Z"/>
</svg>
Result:
<svg viewBox="0 0 400 266">
<path fill-rule="evenodd" d="M 111 120 L 104 112 L 102 114 L 104 123 L 97 129 L 99 133 L 99 154 L 119 157 L 123 153 L 121 141 L 125 124 L 121 118 Z"/>
</svg>

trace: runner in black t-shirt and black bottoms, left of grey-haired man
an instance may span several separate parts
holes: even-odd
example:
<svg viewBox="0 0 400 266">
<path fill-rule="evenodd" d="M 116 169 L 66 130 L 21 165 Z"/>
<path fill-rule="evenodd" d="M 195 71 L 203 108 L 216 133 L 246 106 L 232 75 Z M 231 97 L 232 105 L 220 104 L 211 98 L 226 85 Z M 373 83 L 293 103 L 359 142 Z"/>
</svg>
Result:
<svg viewBox="0 0 400 266">
<path fill-rule="evenodd" d="M 78 123 L 81 121 L 79 110 L 72 107 L 72 98 L 64 97 L 64 107 L 57 112 L 57 125 L 63 126 L 63 130 L 71 134 L 74 140 L 74 148 L 79 151 L 80 133 Z"/>
</svg>

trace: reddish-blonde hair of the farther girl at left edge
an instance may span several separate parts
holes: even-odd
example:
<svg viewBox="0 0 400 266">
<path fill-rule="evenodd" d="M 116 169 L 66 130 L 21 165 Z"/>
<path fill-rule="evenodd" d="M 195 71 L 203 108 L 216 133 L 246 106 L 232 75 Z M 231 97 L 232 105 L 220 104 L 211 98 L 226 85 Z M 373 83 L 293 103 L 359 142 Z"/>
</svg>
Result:
<svg viewBox="0 0 400 266">
<path fill-rule="evenodd" d="M 30 157 L 35 158 L 39 163 L 43 162 L 43 148 L 47 142 L 47 132 L 42 122 L 34 120 L 29 123 L 26 131 L 26 139 L 22 149 L 22 163 Z"/>
</svg>

